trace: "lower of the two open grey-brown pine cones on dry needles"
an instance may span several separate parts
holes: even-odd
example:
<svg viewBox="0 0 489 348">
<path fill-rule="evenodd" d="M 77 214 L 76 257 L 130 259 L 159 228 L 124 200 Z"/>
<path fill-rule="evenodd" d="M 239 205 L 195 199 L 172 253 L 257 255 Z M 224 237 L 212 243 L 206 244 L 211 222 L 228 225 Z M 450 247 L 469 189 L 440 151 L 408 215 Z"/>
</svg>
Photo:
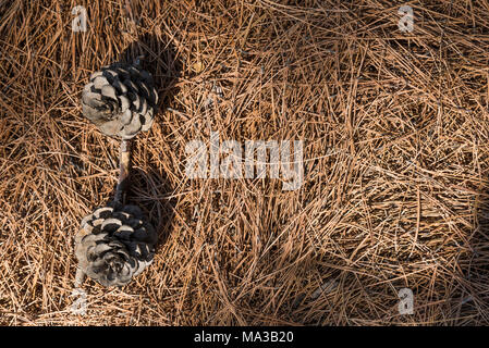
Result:
<svg viewBox="0 0 489 348">
<path fill-rule="evenodd" d="M 103 286 L 123 286 L 152 262 L 157 235 L 136 206 L 103 207 L 75 236 L 78 268 Z"/>
</svg>

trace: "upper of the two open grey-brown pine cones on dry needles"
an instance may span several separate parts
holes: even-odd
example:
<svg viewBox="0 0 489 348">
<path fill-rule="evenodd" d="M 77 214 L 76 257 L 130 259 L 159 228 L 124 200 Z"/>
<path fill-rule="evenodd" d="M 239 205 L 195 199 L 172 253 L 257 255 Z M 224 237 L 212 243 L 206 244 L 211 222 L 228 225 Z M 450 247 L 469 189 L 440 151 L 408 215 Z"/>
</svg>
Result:
<svg viewBox="0 0 489 348">
<path fill-rule="evenodd" d="M 103 66 L 82 94 L 85 117 L 103 134 L 123 139 L 151 127 L 157 103 L 151 74 L 136 64 Z"/>
</svg>

